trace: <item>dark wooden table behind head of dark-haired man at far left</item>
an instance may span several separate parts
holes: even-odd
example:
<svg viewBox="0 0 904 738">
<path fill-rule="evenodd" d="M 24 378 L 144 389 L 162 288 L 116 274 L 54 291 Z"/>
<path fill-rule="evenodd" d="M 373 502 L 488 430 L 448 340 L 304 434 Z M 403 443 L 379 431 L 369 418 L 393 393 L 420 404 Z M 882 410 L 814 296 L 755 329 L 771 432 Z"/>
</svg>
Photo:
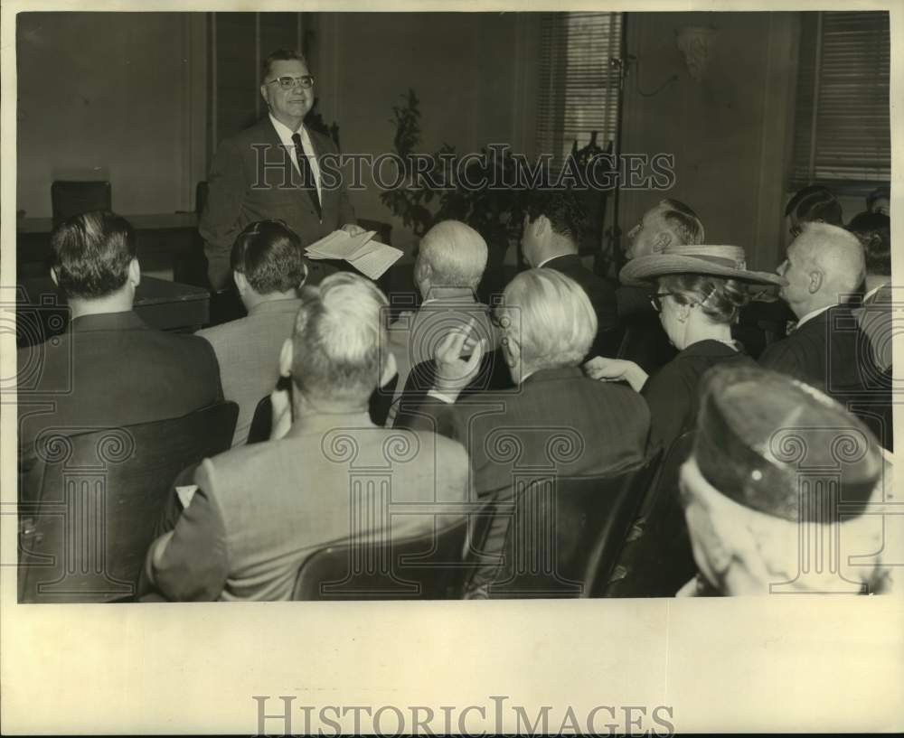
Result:
<svg viewBox="0 0 904 738">
<path fill-rule="evenodd" d="M 203 287 L 143 276 L 135 312 L 163 331 L 194 332 L 210 322 L 210 293 Z M 16 285 L 16 345 L 32 346 L 66 330 L 69 307 L 49 276 Z"/>
</svg>

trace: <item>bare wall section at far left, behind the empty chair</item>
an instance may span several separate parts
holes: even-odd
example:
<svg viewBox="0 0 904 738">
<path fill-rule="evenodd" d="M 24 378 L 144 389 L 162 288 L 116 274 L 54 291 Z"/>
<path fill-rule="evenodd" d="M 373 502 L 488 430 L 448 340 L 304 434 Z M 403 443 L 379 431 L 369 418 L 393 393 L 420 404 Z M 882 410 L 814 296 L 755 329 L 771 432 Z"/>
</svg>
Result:
<svg viewBox="0 0 904 738">
<path fill-rule="evenodd" d="M 49 216 L 54 179 L 108 179 L 123 214 L 193 208 L 205 166 L 204 14 L 17 22 L 17 208 Z"/>
</svg>

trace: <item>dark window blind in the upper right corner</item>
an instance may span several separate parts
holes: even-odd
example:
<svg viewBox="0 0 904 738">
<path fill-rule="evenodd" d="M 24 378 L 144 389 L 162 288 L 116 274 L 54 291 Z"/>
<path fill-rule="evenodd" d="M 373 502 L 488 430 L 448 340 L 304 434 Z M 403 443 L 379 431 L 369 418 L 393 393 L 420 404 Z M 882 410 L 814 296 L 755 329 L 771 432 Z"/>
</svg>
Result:
<svg viewBox="0 0 904 738">
<path fill-rule="evenodd" d="M 801 16 L 792 188 L 888 182 L 888 12 Z"/>
</svg>

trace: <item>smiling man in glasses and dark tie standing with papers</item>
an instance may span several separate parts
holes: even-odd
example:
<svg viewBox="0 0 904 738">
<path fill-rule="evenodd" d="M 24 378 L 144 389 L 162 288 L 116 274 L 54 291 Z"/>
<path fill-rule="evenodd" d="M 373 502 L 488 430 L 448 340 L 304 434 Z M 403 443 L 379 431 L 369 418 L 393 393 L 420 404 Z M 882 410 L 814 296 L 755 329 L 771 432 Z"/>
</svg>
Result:
<svg viewBox="0 0 904 738">
<path fill-rule="evenodd" d="M 298 51 L 271 53 L 261 65 L 260 94 L 268 117 L 223 141 L 208 175 L 199 230 L 215 290 L 229 285 L 232 244 L 256 220 L 284 221 L 305 246 L 335 229 L 363 231 L 355 224 L 339 167 L 325 167 L 325 155 L 338 162 L 333 141 L 304 126 L 314 106 L 314 78 L 305 57 Z"/>
</svg>

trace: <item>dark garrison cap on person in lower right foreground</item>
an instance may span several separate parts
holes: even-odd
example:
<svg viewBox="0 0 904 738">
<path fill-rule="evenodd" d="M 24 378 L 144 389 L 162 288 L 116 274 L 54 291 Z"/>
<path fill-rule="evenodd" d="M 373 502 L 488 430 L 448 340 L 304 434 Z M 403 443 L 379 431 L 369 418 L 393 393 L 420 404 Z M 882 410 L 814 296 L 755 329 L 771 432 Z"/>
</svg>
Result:
<svg viewBox="0 0 904 738">
<path fill-rule="evenodd" d="M 755 366 L 704 375 L 694 454 L 726 497 L 795 521 L 861 514 L 882 472 L 862 421 L 819 390 Z"/>
</svg>

